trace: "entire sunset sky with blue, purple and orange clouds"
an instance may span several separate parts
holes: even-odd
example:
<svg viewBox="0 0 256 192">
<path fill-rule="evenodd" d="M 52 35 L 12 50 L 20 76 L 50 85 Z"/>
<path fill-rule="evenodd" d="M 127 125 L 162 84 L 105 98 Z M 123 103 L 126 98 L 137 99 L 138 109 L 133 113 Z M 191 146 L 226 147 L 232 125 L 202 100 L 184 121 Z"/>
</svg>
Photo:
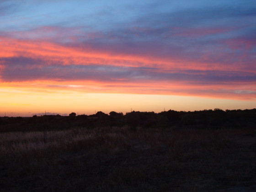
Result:
<svg viewBox="0 0 256 192">
<path fill-rule="evenodd" d="M 0 116 L 256 108 L 255 0 L 0 0 Z"/>
</svg>

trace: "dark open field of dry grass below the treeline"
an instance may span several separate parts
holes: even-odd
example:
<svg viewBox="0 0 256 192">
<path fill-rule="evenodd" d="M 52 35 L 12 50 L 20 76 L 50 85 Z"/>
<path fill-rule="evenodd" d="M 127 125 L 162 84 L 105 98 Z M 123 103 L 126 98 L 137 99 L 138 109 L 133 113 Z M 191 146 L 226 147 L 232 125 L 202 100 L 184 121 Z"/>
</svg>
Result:
<svg viewBox="0 0 256 192">
<path fill-rule="evenodd" d="M 0 133 L 0 191 L 256 191 L 256 129 Z"/>
</svg>

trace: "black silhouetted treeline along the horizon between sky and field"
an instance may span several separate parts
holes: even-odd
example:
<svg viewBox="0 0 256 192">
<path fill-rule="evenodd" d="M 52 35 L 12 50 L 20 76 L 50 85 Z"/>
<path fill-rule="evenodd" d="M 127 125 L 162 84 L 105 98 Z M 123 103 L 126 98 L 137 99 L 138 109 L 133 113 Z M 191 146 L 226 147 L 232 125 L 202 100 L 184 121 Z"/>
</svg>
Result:
<svg viewBox="0 0 256 192">
<path fill-rule="evenodd" d="M 130 128 L 245 128 L 256 127 L 256 109 L 251 110 L 203 110 L 177 112 L 97 112 L 93 115 L 69 116 L 43 115 L 33 117 L 0 117 L 0 132 L 62 130 L 69 128 L 122 127 Z"/>
</svg>

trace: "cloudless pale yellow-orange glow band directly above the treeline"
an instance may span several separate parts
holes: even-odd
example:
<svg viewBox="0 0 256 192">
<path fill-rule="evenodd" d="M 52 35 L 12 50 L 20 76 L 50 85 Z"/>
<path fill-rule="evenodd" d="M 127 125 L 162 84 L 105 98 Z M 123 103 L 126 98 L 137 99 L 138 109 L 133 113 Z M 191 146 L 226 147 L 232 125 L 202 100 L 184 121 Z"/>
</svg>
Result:
<svg viewBox="0 0 256 192">
<path fill-rule="evenodd" d="M 195 111 L 204 109 L 251 109 L 256 101 L 238 101 L 230 99 L 205 98 L 195 96 L 85 93 L 76 91 L 32 92 L 31 90 L 1 88 L 0 116 L 31 117 L 33 114 L 50 112 L 68 115 L 94 114 L 95 111 L 109 113 L 134 111 L 165 110 Z"/>
</svg>

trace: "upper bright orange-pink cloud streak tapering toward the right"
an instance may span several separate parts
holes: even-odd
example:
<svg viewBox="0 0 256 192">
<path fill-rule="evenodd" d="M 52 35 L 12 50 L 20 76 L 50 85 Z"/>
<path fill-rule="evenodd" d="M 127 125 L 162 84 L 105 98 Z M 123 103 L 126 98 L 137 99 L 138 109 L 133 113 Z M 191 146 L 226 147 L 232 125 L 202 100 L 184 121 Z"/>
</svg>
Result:
<svg viewBox="0 0 256 192">
<path fill-rule="evenodd" d="M 198 69 L 198 70 L 229 70 L 230 66 L 218 63 L 170 59 L 152 55 L 134 55 L 120 52 L 113 53 L 111 50 L 99 51 L 90 46 L 77 47 L 45 42 L 43 40 L 18 40 L 10 37 L 0 37 L 0 58 L 28 57 L 43 59 L 45 65 L 50 64 L 101 64 L 127 67 L 157 67 L 158 70 Z M 207 55 L 205 55 L 207 57 Z M 234 66 L 233 70 L 240 70 Z"/>
</svg>

